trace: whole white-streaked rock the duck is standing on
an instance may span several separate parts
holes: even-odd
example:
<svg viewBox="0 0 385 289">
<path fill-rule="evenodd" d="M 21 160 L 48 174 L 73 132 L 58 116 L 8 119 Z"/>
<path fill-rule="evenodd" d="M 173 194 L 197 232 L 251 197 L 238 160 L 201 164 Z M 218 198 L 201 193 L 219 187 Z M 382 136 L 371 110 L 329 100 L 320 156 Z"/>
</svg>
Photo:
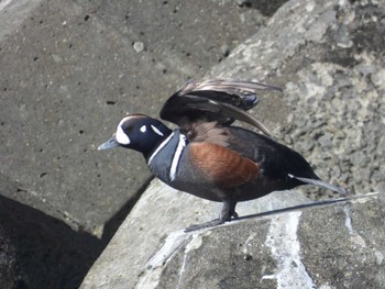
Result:
<svg viewBox="0 0 385 289">
<path fill-rule="evenodd" d="M 184 233 L 220 205 L 154 180 L 80 288 L 384 287 L 385 194 L 304 198 L 274 192 L 239 203 L 239 221 Z"/>
</svg>

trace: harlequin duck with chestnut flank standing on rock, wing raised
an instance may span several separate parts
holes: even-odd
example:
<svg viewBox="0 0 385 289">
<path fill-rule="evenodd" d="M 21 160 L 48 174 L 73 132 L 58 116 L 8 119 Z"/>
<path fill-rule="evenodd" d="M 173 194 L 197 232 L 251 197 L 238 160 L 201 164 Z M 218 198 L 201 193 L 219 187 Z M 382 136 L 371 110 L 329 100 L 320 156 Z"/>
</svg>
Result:
<svg viewBox="0 0 385 289">
<path fill-rule="evenodd" d="M 219 225 L 237 218 L 235 204 L 272 191 L 310 184 L 336 192 L 297 152 L 253 131 L 231 125 L 249 122 L 267 129 L 245 111 L 257 103 L 255 90 L 279 90 L 235 80 L 190 81 L 175 92 L 161 118 L 178 124 L 170 130 L 144 114 L 121 120 L 117 132 L 98 149 L 122 146 L 141 152 L 152 173 L 168 186 L 223 202 L 219 218 L 186 231 Z"/>
</svg>

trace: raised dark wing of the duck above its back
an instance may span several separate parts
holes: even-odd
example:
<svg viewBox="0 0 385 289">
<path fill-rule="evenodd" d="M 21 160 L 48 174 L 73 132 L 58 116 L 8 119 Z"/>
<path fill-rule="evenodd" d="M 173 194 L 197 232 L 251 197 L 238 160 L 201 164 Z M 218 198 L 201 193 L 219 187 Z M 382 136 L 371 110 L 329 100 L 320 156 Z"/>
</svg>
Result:
<svg viewBox="0 0 385 289">
<path fill-rule="evenodd" d="M 161 110 L 161 118 L 180 127 L 195 122 L 211 121 L 229 125 L 234 120 L 239 120 L 271 135 L 266 126 L 246 112 L 257 104 L 257 90 L 282 91 L 278 87 L 251 81 L 190 80 L 165 102 Z"/>
</svg>

